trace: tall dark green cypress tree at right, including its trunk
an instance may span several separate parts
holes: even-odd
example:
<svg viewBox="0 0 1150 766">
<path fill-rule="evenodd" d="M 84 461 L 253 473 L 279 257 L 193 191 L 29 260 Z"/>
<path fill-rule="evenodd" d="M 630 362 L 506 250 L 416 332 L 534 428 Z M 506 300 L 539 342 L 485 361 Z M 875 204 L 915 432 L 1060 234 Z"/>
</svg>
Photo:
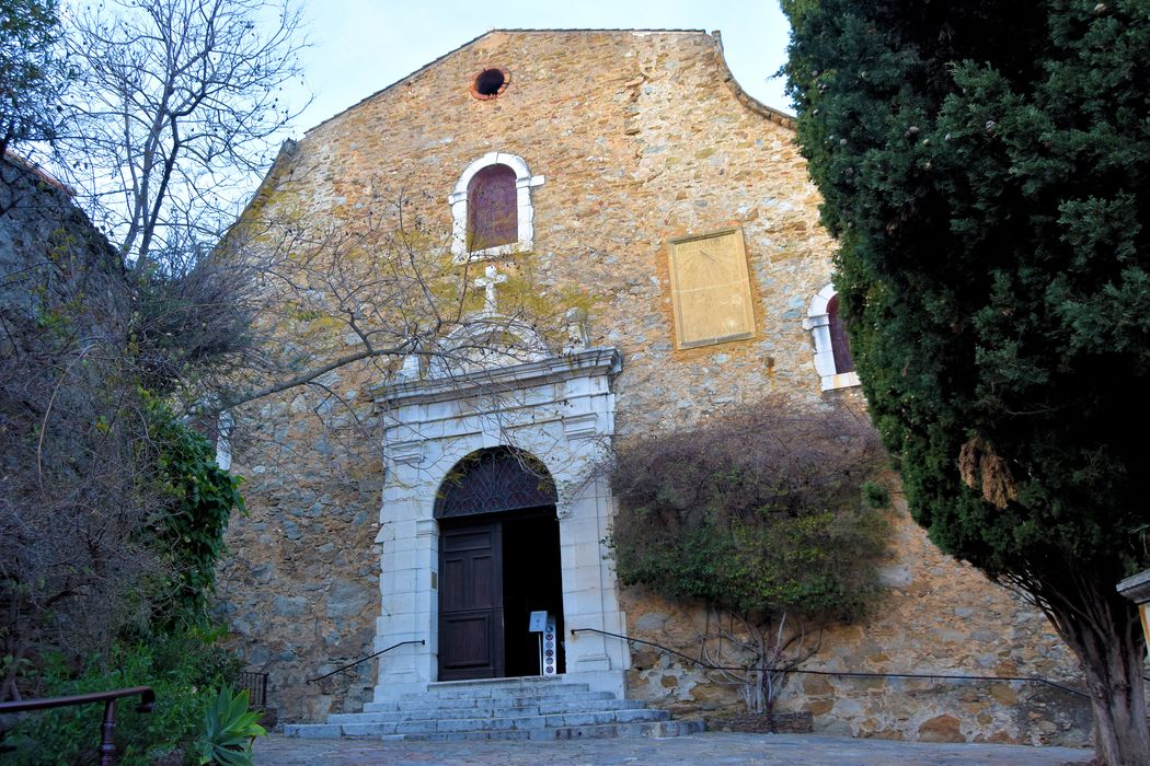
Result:
<svg viewBox="0 0 1150 766">
<path fill-rule="evenodd" d="M 1150 0 L 784 0 L 835 284 L 915 519 L 1082 663 L 1150 763 Z"/>
</svg>

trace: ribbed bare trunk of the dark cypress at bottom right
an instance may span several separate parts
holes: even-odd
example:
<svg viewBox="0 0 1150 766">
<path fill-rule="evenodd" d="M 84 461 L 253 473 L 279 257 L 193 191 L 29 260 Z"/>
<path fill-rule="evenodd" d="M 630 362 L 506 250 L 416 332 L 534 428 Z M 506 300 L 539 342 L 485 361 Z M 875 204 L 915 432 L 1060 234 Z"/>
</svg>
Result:
<svg viewBox="0 0 1150 766">
<path fill-rule="evenodd" d="M 1078 655 L 1086 674 L 1094 712 L 1094 741 L 1098 759 L 1106 766 L 1150 764 L 1150 729 L 1147 727 L 1144 667 L 1145 643 L 1137 609 L 1111 588 L 1102 593 L 1079 582 L 1070 604 L 1061 594 L 1048 614 L 1058 633 Z M 1082 587 L 1086 586 L 1086 587 Z"/>
</svg>

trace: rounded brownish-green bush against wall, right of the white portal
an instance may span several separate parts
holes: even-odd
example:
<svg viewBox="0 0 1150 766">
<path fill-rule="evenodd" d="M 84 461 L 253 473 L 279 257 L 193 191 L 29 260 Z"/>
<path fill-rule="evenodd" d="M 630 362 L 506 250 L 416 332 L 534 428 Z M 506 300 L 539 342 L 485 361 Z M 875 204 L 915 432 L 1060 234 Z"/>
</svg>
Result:
<svg viewBox="0 0 1150 766">
<path fill-rule="evenodd" d="M 610 466 L 620 500 L 607 546 L 623 585 L 700 599 L 696 645 L 715 681 L 769 712 L 823 626 L 879 596 L 887 539 L 877 435 L 848 412 L 767 400 L 731 418 L 622 443 Z"/>
</svg>

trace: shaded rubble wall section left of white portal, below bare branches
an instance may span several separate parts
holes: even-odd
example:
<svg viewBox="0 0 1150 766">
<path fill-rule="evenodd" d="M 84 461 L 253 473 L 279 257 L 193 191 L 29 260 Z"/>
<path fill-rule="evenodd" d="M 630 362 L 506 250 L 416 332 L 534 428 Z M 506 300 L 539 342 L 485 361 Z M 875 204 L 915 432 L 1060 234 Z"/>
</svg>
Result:
<svg viewBox="0 0 1150 766">
<path fill-rule="evenodd" d="M 375 684 L 370 663 L 307 683 L 371 653 L 379 610 L 379 450 L 331 408 L 302 390 L 237 418 L 231 470 L 245 478 L 248 516 L 228 528 L 217 610 L 248 667 L 269 674 L 281 721 L 360 710 Z"/>
</svg>

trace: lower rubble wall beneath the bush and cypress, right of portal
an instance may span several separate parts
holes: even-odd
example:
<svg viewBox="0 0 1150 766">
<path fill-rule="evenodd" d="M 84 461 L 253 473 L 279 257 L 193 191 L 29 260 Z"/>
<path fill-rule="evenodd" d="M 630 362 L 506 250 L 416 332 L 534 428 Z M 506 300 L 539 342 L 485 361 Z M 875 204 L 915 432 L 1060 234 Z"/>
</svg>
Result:
<svg viewBox="0 0 1150 766">
<path fill-rule="evenodd" d="M 803 670 L 854 673 L 1032 676 L 1080 687 L 1074 658 L 1045 618 L 926 540 L 902 502 L 894 550 L 881 578 L 888 591 L 865 622 L 827 632 Z M 644 593 L 623 594 L 630 635 L 696 656 L 703 610 Z M 651 649 L 634 653 L 636 697 L 721 721 L 742 712 L 738 689 L 690 663 Z M 810 711 L 815 732 L 925 742 L 1088 745 L 1089 704 L 1037 682 L 850 678 L 795 674 L 779 712 Z M 714 718 L 712 718 L 714 715 Z"/>
</svg>

